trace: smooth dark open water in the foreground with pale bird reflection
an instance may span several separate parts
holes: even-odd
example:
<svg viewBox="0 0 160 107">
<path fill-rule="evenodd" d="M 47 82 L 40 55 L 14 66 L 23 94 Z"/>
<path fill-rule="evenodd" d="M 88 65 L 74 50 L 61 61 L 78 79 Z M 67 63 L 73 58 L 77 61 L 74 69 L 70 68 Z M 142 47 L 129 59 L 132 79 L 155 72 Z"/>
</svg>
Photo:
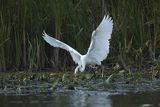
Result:
<svg viewBox="0 0 160 107">
<path fill-rule="evenodd" d="M 160 92 L 115 94 L 69 91 L 0 96 L 0 107 L 160 107 Z"/>
</svg>

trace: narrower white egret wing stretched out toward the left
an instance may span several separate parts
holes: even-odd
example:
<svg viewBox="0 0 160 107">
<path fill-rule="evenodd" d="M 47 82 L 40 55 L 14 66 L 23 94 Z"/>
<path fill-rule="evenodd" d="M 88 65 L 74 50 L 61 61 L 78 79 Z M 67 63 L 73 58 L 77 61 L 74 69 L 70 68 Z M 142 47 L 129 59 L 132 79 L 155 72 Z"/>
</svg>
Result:
<svg viewBox="0 0 160 107">
<path fill-rule="evenodd" d="M 81 54 L 79 52 L 77 52 L 75 49 L 73 49 L 72 47 L 70 47 L 69 45 L 50 37 L 49 35 L 46 34 L 45 31 L 43 31 L 43 38 L 44 40 L 49 43 L 50 45 L 54 46 L 54 47 L 58 47 L 58 48 L 62 48 L 65 49 L 67 51 L 69 51 L 69 53 L 71 54 L 73 61 L 75 63 L 78 63 L 78 61 L 80 60 Z"/>
</svg>

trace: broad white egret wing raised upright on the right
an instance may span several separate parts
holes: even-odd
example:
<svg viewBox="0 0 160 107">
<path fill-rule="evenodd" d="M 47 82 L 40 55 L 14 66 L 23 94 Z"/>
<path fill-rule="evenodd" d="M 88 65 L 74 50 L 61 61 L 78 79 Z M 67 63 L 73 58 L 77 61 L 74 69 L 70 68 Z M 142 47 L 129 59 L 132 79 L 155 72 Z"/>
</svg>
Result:
<svg viewBox="0 0 160 107">
<path fill-rule="evenodd" d="M 109 16 L 104 16 L 96 30 L 92 32 L 91 43 L 88 49 L 88 56 L 103 61 L 109 53 L 109 39 L 111 38 L 113 22 Z"/>
</svg>

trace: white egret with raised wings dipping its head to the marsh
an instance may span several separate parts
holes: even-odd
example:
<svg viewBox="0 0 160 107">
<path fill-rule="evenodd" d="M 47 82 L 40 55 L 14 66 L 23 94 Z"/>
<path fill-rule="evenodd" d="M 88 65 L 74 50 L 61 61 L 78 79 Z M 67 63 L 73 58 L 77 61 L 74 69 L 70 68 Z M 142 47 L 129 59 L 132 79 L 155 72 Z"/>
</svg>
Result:
<svg viewBox="0 0 160 107">
<path fill-rule="evenodd" d="M 81 55 L 69 45 L 50 37 L 45 33 L 45 31 L 43 32 L 43 38 L 53 47 L 58 47 L 69 51 L 73 61 L 78 64 L 75 68 L 76 74 L 78 71 L 83 72 L 87 64 L 101 65 L 101 61 L 106 59 L 109 53 L 109 39 L 111 38 L 112 29 L 112 19 L 109 18 L 109 16 L 104 16 L 97 29 L 92 32 L 91 43 L 88 48 L 88 52 L 85 55 Z"/>
</svg>

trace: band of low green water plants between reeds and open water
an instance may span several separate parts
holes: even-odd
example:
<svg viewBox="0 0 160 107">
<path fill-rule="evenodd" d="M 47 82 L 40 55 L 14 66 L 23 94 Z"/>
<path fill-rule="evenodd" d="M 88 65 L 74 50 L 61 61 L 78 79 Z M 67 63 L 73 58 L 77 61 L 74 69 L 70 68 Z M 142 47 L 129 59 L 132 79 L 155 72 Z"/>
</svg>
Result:
<svg viewBox="0 0 160 107">
<path fill-rule="evenodd" d="M 131 89 L 149 85 L 160 87 L 159 73 L 153 77 L 153 72 L 116 72 L 109 75 L 96 73 L 93 78 L 89 72 L 7 72 L 0 73 L 0 93 L 38 93 L 55 92 L 59 90 L 116 90 Z M 152 83 L 153 82 L 153 83 Z M 141 84 L 141 85 L 139 85 Z M 142 86 L 143 85 L 143 86 Z M 153 86 L 152 86 L 153 87 Z"/>
</svg>

